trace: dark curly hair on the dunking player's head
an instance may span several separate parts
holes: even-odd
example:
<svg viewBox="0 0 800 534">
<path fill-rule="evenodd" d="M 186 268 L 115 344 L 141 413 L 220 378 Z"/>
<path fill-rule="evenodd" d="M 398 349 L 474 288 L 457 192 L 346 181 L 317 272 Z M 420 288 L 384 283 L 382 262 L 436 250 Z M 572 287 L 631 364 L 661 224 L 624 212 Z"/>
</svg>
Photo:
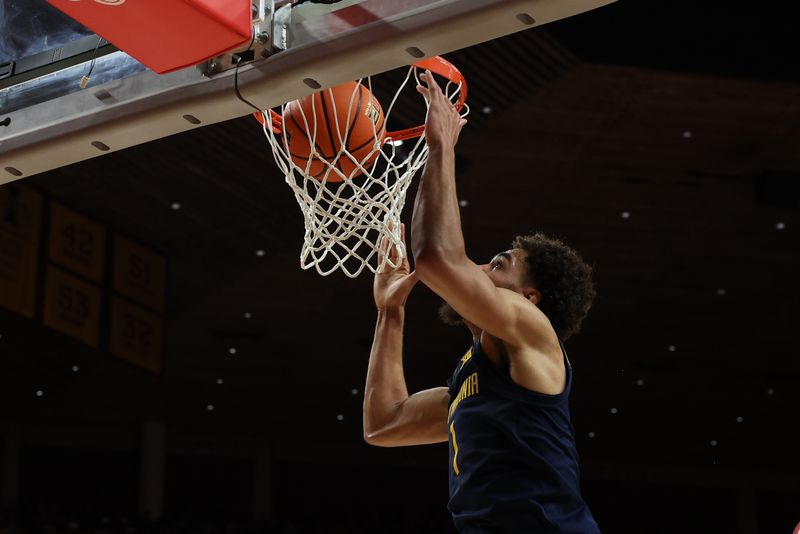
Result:
<svg viewBox="0 0 800 534">
<path fill-rule="evenodd" d="M 542 294 L 538 307 L 558 338 L 577 334 L 596 294 L 592 268 L 574 249 L 541 232 L 517 236 L 511 246 L 527 252 L 528 274 Z"/>
</svg>

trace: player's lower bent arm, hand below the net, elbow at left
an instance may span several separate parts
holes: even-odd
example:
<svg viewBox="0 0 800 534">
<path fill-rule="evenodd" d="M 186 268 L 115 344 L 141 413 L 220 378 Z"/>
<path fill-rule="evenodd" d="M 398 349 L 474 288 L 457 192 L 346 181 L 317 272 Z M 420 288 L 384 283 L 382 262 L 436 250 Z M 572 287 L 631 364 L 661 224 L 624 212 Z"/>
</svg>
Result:
<svg viewBox="0 0 800 534">
<path fill-rule="evenodd" d="M 396 264 L 397 254 L 389 248 L 384 240 L 379 250 L 381 254 L 388 252 Z M 399 447 L 447 441 L 447 388 L 409 397 L 403 373 L 405 302 L 416 282 L 408 260 L 398 269 L 375 275 L 378 322 L 364 388 L 364 439 L 371 445 Z"/>
</svg>

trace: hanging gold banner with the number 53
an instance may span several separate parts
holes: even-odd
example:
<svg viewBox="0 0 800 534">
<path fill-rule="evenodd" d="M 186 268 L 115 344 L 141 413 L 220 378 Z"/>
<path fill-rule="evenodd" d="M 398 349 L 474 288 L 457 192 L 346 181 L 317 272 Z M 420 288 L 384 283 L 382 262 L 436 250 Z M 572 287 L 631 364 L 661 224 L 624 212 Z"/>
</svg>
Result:
<svg viewBox="0 0 800 534">
<path fill-rule="evenodd" d="M 42 319 L 46 326 L 97 347 L 101 291 L 55 267 L 47 268 Z"/>
</svg>

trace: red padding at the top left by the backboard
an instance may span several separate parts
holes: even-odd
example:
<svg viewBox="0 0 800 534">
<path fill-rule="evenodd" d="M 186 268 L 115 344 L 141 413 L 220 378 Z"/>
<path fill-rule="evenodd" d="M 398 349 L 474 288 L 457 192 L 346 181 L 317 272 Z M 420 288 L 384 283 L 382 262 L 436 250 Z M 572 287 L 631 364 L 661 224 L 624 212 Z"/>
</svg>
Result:
<svg viewBox="0 0 800 534">
<path fill-rule="evenodd" d="M 160 74 L 251 39 L 250 0 L 47 1 Z"/>
</svg>

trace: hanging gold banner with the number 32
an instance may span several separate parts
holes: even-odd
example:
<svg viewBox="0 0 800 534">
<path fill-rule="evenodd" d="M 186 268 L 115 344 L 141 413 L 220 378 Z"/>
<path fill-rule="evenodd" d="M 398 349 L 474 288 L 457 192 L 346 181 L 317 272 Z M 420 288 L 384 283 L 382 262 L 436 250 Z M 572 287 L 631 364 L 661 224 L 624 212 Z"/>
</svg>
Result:
<svg viewBox="0 0 800 534">
<path fill-rule="evenodd" d="M 114 297 L 111 354 L 137 367 L 161 373 L 162 319 L 125 299 Z"/>
</svg>

